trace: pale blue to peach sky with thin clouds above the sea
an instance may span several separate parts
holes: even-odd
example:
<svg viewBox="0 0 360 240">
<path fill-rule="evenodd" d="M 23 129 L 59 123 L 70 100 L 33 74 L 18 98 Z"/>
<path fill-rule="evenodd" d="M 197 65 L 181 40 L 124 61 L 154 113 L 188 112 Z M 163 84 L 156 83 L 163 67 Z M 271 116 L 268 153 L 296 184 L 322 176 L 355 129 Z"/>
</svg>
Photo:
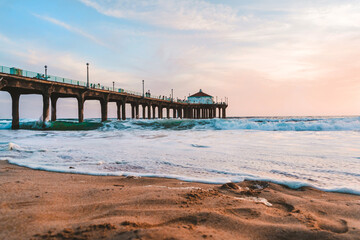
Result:
<svg viewBox="0 0 360 240">
<path fill-rule="evenodd" d="M 0 0 L 0 65 L 184 98 L 228 116 L 359 115 L 358 0 Z M 20 117 L 39 118 L 40 96 Z M 76 117 L 75 99 L 58 102 Z M 100 105 L 86 103 L 85 117 Z M 114 106 L 110 107 L 114 115 Z M 0 118 L 11 99 L 0 92 Z M 111 116 L 110 116 L 111 117 Z"/>
</svg>

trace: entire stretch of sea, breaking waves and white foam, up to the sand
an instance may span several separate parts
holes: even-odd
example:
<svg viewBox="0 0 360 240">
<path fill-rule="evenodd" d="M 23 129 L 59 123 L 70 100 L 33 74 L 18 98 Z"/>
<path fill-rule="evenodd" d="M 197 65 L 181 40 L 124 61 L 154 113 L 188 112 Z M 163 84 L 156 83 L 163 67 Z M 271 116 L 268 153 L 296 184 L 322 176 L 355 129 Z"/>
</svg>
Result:
<svg viewBox="0 0 360 240">
<path fill-rule="evenodd" d="M 0 160 L 59 172 L 225 183 L 270 180 L 360 194 L 360 117 L 0 120 Z"/>
</svg>

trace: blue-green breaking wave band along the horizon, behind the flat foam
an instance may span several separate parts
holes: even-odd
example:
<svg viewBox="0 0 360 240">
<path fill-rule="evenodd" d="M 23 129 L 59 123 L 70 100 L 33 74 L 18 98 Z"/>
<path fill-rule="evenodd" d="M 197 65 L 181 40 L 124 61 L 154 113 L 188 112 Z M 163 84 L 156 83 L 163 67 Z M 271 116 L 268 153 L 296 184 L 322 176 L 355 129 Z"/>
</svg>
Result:
<svg viewBox="0 0 360 240">
<path fill-rule="evenodd" d="M 10 129 L 10 120 L 0 120 L 0 129 Z M 228 119 L 154 119 L 110 120 L 101 123 L 88 119 L 78 123 L 74 119 L 55 122 L 21 120 L 20 129 L 28 130 L 258 130 L 258 131 L 360 131 L 360 117 L 338 118 L 228 118 Z"/>
</svg>

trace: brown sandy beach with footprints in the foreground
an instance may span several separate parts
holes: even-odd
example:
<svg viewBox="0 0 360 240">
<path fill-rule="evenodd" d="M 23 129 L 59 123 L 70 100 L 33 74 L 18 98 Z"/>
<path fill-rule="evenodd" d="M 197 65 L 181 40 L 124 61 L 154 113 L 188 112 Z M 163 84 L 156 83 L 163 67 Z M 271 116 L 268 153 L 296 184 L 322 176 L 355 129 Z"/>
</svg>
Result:
<svg viewBox="0 0 360 240">
<path fill-rule="evenodd" d="M 52 173 L 0 161 L 0 239 L 360 239 L 360 196 L 256 181 Z"/>
</svg>

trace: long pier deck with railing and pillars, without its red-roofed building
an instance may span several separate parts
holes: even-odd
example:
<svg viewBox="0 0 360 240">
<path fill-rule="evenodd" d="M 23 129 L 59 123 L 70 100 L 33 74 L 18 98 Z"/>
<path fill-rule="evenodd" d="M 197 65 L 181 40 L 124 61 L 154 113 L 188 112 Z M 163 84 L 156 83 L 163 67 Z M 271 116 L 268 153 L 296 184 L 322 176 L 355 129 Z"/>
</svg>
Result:
<svg viewBox="0 0 360 240">
<path fill-rule="evenodd" d="M 115 102 L 117 119 L 126 119 L 126 104 L 131 106 L 131 118 L 139 119 L 139 106 L 142 106 L 143 119 L 187 118 L 209 119 L 226 118 L 227 103 L 194 104 L 187 101 L 152 97 L 126 91 L 121 88 L 105 87 L 100 84 L 88 84 L 81 81 L 48 76 L 17 68 L 0 66 L 0 91 L 6 91 L 12 99 L 12 129 L 19 129 L 19 100 L 23 94 L 40 94 L 43 98 L 42 120 L 56 121 L 56 107 L 59 98 L 76 98 L 78 120 L 84 121 L 84 102 L 98 100 L 101 106 L 101 121 L 107 121 L 108 103 Z M 166 116 L 163 114 L 165 109 Z M 173 116 L 170 116 L 170 109 Z M 156 111 L 157 110 L 157 111 Z M 157 116 L 155 113 L 157 112 Z"/>
</svg>

